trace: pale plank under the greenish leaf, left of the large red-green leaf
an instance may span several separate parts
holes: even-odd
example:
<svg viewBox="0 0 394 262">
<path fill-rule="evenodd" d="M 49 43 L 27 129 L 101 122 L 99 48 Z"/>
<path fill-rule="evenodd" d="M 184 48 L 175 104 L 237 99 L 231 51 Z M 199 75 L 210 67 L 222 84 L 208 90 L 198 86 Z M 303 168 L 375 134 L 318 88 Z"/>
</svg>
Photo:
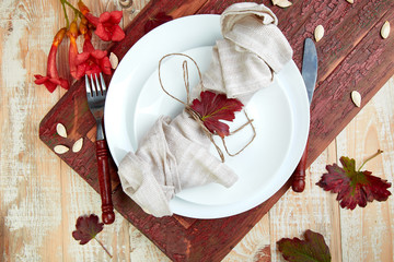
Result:
<svg viewBox="0 0 394 262">
<path fill-rule="evenodd" d="M 336 162 L 335 142 L 331 143 L 308 169 L 304 192 L 300 194 L 291 190 L 287 191 L 269 211 L 273 261 L 282 261 L 276 246 L 278 240 L 285 237 L 303 239 L 306 229 L 322 234 L 332 250 L 333 261 L 341 261 L 337 201 L 334 195 L 315 186 L 326 171 L 326 163 L 334 162 Z"/>
</svg>

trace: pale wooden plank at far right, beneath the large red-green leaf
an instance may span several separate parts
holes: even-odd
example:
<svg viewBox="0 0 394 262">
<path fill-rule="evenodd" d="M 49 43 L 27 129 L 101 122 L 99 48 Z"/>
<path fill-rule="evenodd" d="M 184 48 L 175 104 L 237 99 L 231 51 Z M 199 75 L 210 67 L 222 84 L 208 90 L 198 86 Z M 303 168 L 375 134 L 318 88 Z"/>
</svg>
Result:
<svg viewBox="0 0 394 262">
<path fill-rule="evenodd" d="M 394 181 L 393 87 L 394 79 L 391 79 L 337 139 L 338 156 L 354 157 L 357 166 L 378 148 L 383 150 L 384 153 L 369 162 L 364 168 L 392 183 Z M 344 261 L 394 260 L 392 198 L 390 196 L 386 202 L 368 203 L 364 209 L 340 210 Z"/>
</svg>

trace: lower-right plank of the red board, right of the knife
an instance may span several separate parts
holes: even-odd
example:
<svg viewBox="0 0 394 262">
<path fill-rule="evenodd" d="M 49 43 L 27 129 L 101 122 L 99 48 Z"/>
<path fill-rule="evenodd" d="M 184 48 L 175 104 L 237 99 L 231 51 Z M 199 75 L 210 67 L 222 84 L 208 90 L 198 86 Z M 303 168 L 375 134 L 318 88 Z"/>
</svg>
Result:
<svg viewBox="0 0 394 262">
<path fill-rule="evenodd" d="M 394 53 L 390 47 L 394 45 L 394 38 L 382 39 L 379 33 L 384 21 L 394 23 L 394 14 L 386 13 L 381 17 L 332 74 L 316 86 L 311 105 L 309 164 L 359 112 L 351 103 L 351 91 L 361 94 L 363 107 L 393 75 Z M 322 52 L 318 49 L 318 53 Z"/>
</svg>

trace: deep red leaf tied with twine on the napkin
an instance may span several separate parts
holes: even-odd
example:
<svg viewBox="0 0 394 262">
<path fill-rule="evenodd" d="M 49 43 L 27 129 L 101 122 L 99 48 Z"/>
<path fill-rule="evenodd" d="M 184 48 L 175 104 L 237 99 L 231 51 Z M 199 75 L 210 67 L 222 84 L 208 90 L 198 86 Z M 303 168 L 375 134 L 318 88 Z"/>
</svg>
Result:
<svg viewBox="0 0 394 262">
<path fill-rule="evenodd" d="M 192 109 L 199 114 L 204 126 L 211 132 L 224 138 L 230 134 L 230 128 L 220 120 L 232 121 L 234 112 L 241 111 L 243 104 L 225 95 L 215 94 L 210 91 L 201 92 L 201 100 L 194 99 Z"/>
</svg>

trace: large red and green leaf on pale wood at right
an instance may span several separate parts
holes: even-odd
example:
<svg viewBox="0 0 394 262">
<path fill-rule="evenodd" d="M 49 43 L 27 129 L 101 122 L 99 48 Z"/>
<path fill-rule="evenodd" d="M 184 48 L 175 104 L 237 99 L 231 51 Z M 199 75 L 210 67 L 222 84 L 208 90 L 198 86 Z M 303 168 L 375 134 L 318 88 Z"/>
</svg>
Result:
<svg viewBox="0 0 394 262">
<path fill-rule="evenodd" d="M 386 201 L 391 195 L 387 190 L 391 183 L 387 180 L 371 176 L 372 172 L 367 170 L 356 170 L 356 160 L 352 158 L 343 156 L 339 160 L 343 168 L 337 164 L 327 165 L 328 172 L 324 174 L 316 184 L 325 191 L 338 193 L 340 207 L 349 210 L 354 210 L 357 205 L 364 207 L 367 202 Z"/>
</svg>

